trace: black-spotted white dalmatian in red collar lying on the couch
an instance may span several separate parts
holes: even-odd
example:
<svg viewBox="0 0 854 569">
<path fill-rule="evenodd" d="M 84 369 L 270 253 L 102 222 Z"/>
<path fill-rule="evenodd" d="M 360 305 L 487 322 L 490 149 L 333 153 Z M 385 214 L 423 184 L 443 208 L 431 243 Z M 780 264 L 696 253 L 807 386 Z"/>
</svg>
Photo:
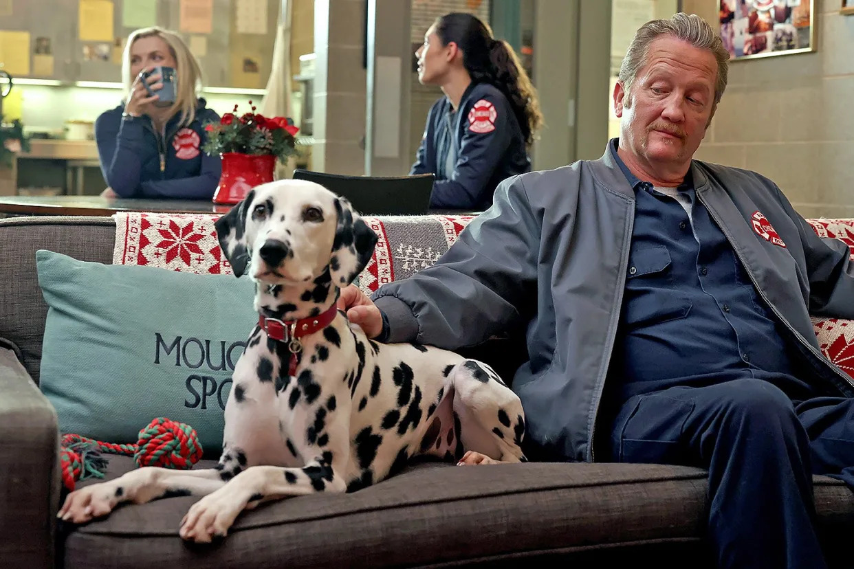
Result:
<svg viewBox="0 0 854 569">
<path fill-rule="evenodd" d="M 143 467 L 73 491 L 59 517 L 85 523 L 121 502 L 202 496 L 179 535 L 208 543 L 260 502 L 356 491 L 416 456 L 522 462 L 518 397 L 484 363 L 370 340 L 336 309 L 377 235 L 349 202 L 303 180 L 265 183 L 215 222 L 236 276 L 255 282 L 259 324 L 237 362 L 219 464 Z"/>
</svg>

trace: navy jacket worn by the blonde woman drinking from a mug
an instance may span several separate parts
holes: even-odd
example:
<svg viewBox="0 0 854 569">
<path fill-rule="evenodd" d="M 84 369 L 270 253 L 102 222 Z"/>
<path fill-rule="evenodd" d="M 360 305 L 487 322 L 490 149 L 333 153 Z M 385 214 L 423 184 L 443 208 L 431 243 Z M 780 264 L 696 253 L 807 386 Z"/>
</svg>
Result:
<svg viewBox="0 0 854 569">
<path fill-rule="evenodd" d="M 199 99 L 196 119 L 178 126 L 180 113 L 166 126 L 166 137 L 155 132 L 151 119 L 122 120 L 122 104 L 95 122 L 101 171 L 110 188 L 123 198 L 211 199 L 222 171 L 219 156 L 202 150 L 204 124 L 219 115 Z"/>
</svg>

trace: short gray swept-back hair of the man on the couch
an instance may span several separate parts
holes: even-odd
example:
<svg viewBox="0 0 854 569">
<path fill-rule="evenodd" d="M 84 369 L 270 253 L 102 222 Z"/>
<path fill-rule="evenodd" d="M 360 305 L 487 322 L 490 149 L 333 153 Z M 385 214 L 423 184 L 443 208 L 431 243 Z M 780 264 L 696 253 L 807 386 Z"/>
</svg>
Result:
<svg viewBox="0 0 854 569">
<path fill-rule="evenodd" d="M 646 65 L 649 58 L 649 44 L 662 36 L 681 39 L 695 48 L 708 49 L 717 60 L 717 81 L 715 83 L 715 105 L 721 101 L 723 90 L 727 88 L 727 72 L 729 68 L 729 52 L 723 47 L 720 36 L 709 23 L 699 15 L 687 15 L 680 12 L 670 20 L 651 20 L 646 22 L 635 33 L 635 39 L 629 45 L 629 50 L 620 65 L 619 79 L 627 94 L 637 73 Z"/>
</svg>

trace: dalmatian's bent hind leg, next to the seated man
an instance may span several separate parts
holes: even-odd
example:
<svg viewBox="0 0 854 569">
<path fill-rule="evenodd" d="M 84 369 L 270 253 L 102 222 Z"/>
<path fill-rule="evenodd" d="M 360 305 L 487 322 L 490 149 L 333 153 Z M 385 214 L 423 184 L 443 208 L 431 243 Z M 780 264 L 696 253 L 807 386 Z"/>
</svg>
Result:
<svg viewBox="0 0 854 569">
<path fill-rule="evenodd" d="M 459 440 L 467 452 L 460 464 L 524 462 L 522 402 L 492 368 L 465 360 L 448 374 Z"/>
</svg>

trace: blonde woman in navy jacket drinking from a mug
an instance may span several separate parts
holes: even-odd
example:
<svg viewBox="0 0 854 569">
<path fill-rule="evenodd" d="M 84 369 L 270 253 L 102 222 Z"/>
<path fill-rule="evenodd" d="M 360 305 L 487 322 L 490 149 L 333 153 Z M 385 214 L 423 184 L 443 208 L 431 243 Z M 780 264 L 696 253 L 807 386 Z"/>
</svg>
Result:
<svg viewBox="0 0 854 569">
<path fill-rule="evenodd" d="M 173 89 L 163 90 L 164 95 L 173 92 L 171 103 L 160 101 L 159 67 L 175 70 Z M 196 96 L 202 72 L 190 49 L 160 27 L 137 30 L 127 38 L 122 80 L 124 102 L 95 123 L 98 158 L 109 186 L 102 195 L 211 199 L 222 166 L 218 156 L 202 151 L 203 124 L 219 115 Z"/>
</svg>

